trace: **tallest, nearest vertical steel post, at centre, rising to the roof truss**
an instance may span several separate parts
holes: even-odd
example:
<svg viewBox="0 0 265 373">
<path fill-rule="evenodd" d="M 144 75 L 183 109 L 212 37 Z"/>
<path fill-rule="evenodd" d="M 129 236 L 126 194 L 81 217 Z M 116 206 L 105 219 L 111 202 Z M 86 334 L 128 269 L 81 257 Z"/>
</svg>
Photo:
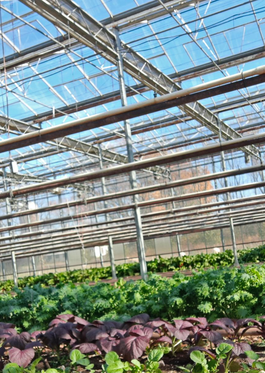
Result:
<svg viewBox="0 0 265 373">
<path fill-rule="evenodd" d="M 117 60 L 117 68 L 118 68 L 118 75 L 119 75 L 119 85 L 121 91 L 121 103 L 122 106 L 127 105 L 127 95 L 126 89 L 124 84 L 124 75 L 123 75 L 123 61 L 122 61 L 122 46 L 121 40 L 119 38 L 119 31 L 116 28 L 113 28 L 116 36 L 116 51 L 118 52 L 118 60 Z M 128 120 L 124 120 L 124 131 L 125 131 L 125 140 L 127 145 L 127 153 L 128 153 L 128 162 L 134 162 L 134 156 L 132 151 L 132 136 L 131 136 L 131 127 Z M 136 172 L 130 172 L 130 186 L 131 189 L 137 188 L 137 181 L 136 181 Z M 147 266 L 146 266 L 146 257 L 145 257 L 145 250 L 144 250 L 144 236 L 143 236 L 143 229 L 142 229 L 142 221 L 141 221 L 141 213 L 140 207 L 138 207 L 139 197 L 138 194 L 135 194 L 133 197 L 134 202 L 134 221 L 135 221 L 135 228 L 137 233 L 137 252 L 140 264 L 140 273 L 141 277 L 146 280 L 147 279 Z"/>
</svg>

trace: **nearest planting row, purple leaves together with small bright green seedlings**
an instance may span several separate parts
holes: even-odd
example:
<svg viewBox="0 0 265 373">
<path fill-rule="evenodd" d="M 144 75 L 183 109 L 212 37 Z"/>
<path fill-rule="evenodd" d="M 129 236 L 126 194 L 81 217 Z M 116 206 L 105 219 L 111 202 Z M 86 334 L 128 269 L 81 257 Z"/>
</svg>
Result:
<svg viewBox="0 0 265 373">
<path fill-rule="evenodd" d="M 261 321 L 221 318 L 209 323 L 205 317 L 189 317 L 169 323 L 138 314 L 124 322 L 90 323 L 73 314 L 61 314 L 49 323 L 47 330 L 33 333 L 17 333 L 15 325 L 0 323 L 0 369 L 4 373 L 23 372 L 37 358 L 26 372 L 34 373 L 35 369 L 45 367 L 45 363 L 49 367 L 47 373 L 56 373 L 52 369 L 69 373 L 77 366 L 94 373 L 97 367 L 86 356 L 89 355 L 98 357 L 97 365 L 105 360 L 101 368 L 106 373 L 159 373 L 163 354 L 174 361 L 181 354 L 184 363 L 196 363 L 185 367 L 186 371 L 227 373 L 237 360 L 238 370 L 244 368 L 255 373 L 249 366 L 259 372 L 265 369 L 265 363 L 258 361 L 259 355 L 242 338 L 254 327 L 261 341 L 264 340 L 264 318 Z M 249 365 L 242 361 L 238 364 L 238 358 L 245 358 Z M 232 371 L 235 372 L 234 367 Z"/>
</svg>

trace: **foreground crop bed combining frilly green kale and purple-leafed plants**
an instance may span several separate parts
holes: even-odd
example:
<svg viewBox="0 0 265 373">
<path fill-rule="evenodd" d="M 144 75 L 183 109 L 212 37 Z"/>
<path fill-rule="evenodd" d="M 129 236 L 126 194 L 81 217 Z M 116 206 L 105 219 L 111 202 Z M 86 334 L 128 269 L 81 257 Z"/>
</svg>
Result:
<svg viewBox="0 0 265 373">
<path fill-rule="evenodd" d="M 265 264 L 171 274 L 0 295 L 0 370 L 264 373 Z"/>
</svg>

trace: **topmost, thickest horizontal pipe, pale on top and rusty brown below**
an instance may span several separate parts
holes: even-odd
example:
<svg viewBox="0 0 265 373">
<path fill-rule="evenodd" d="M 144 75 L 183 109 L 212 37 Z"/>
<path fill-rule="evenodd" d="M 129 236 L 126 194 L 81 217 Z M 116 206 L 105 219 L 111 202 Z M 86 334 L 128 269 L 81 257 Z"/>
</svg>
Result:
<svg viewBox="0 0 265 373">
<path fill-rule="evenodd" d="M 249 76 L 258 75 L 252 78 Z M 240 81 L 238 81 L 241 79 Z M 180 106 L 185 103 L 194 102 L 202 98 L 219 95 L 229 91 L 247 87 L 249 85 L 259 84 L 265 81 L 265 66 L 247 70 L 230 76 L 224 76 L 210 82 L 202 83 L 194 87 L 179 90 L 173 93 L 161 95 L 149 100 L 141 101 L 136 104 L 127 105 L 108 112 L 96 114 L 71 122 L 62 123 L 29 134 L 20 135 L 15 138 L 0 141 L 0 153 L 13 149 L 53 140 L 58 137 L 82 132 L 88 129 L 118 122 L 120 120 L 130 119 L 159 110 L 165 110 L 173 106 Z M 215 88 L 212 88 L 215 87 Z M 217 89 L 216 89 L 217 87 Z M 199 92 L 199 94 L 198 94 Z"/>
</svg>

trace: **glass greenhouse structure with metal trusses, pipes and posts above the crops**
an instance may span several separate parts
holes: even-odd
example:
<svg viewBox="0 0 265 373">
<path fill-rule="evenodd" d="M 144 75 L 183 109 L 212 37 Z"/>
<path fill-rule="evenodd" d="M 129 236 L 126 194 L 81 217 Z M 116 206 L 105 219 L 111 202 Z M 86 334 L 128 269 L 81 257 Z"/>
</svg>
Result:
<svg viewBox="0 0 265 373">
<path fill-rule="evenodd" d="M 1 280 L 264 244 L 262 3 L 1 1 Z"/>
</svg>

